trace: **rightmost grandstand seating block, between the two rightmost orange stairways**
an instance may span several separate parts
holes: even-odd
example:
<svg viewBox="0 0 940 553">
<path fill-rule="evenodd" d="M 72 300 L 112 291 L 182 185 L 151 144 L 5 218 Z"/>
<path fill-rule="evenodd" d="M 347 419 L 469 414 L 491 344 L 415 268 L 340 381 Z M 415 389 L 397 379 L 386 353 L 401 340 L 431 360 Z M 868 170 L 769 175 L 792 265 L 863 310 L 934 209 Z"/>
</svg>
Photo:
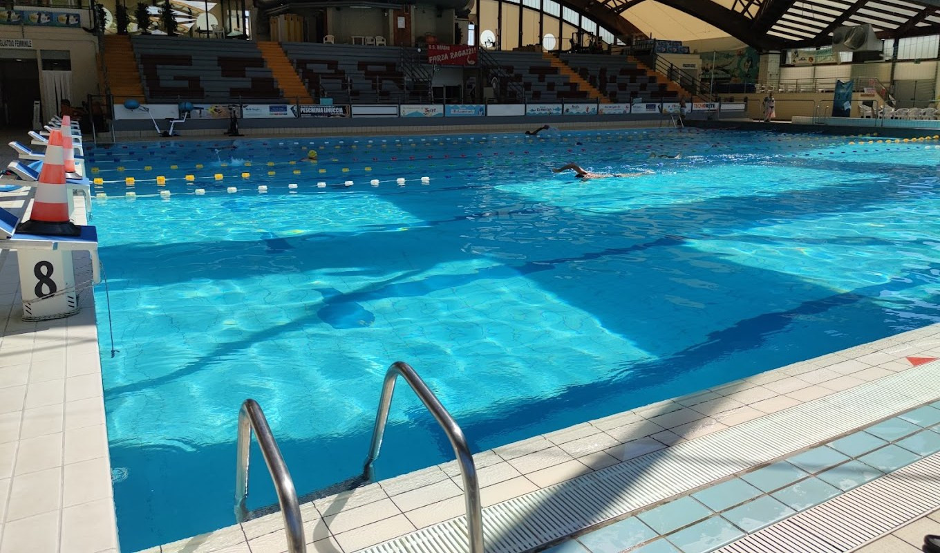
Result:
<svg viewBox="0 0 940 553">
<path fill-rule="evenodd" d="M 611 102 L 670 100 L 678 97 L 658 77 L 622 55 L 562 54 L 572 70 L 603 92 Z"/>
</svg>

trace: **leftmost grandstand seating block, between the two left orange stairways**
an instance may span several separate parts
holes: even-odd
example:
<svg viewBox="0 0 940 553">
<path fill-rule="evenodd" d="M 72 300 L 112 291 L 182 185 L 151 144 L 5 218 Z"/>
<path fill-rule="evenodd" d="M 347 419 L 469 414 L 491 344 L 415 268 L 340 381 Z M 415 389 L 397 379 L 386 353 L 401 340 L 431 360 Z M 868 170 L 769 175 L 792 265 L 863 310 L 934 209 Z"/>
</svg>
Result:
<svg viewBox="0 0 940 553">
<path fill-rule="evenodd" d="M 258 44 L 248 40 L 139 35 L 132 38 L 149 101 L 281 101 Z"/>
</svg>

